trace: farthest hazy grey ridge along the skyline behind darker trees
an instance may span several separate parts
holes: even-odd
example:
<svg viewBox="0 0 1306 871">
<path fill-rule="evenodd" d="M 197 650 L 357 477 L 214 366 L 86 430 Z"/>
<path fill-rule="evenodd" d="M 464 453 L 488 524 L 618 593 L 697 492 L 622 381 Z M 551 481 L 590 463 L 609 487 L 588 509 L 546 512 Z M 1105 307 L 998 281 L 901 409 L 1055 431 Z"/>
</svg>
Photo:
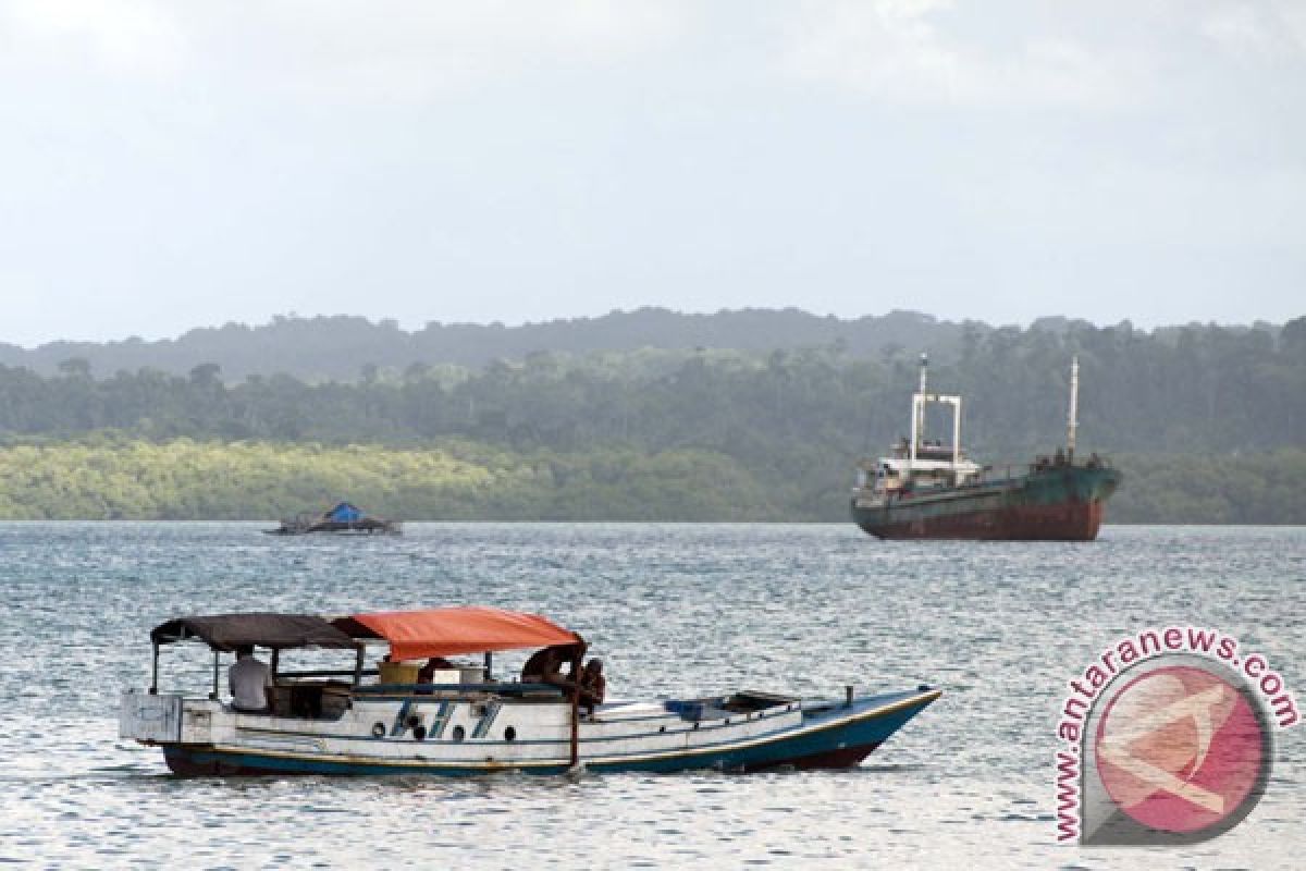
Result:
<svg viewBox="0 0 1306 871">
<path fill-rule="evenodd" d="M 1049 324 L 1059 323 L 1051 320 Z M 537 351 L 592 354 L 652 347 L 693 350 L 729 347 L 747 351 L 793 350 L 841 343 L 849 354 L 871 356 L 885 349 L 931 347 L 951 354 L 965 329 L 985 324 L 939 321 L 916 312 L 891 312 L 855 320 L 820 317 L 794 308 L 682 315 L 665 308 L 613 312 L 542 324 L 427 324 L 404 330 L 392 320 L 364 317 L 276 317 L 270 324 L 227 324 L 195 329 L 176 340 L 120 342 L 50 342 L 31 350 L 0 343 L 0 364 L 54 375 L 61 363 L 80 360 L 97 377 L 148 367 L 185 375 L 215 363 L 226 380 L 283 373 L 307 381 L 353 380 L 362 371 L 402 372 L 417 366 L 453 363 L 479 368 L 495 359 L 522 359 Z"/>
</svg>

